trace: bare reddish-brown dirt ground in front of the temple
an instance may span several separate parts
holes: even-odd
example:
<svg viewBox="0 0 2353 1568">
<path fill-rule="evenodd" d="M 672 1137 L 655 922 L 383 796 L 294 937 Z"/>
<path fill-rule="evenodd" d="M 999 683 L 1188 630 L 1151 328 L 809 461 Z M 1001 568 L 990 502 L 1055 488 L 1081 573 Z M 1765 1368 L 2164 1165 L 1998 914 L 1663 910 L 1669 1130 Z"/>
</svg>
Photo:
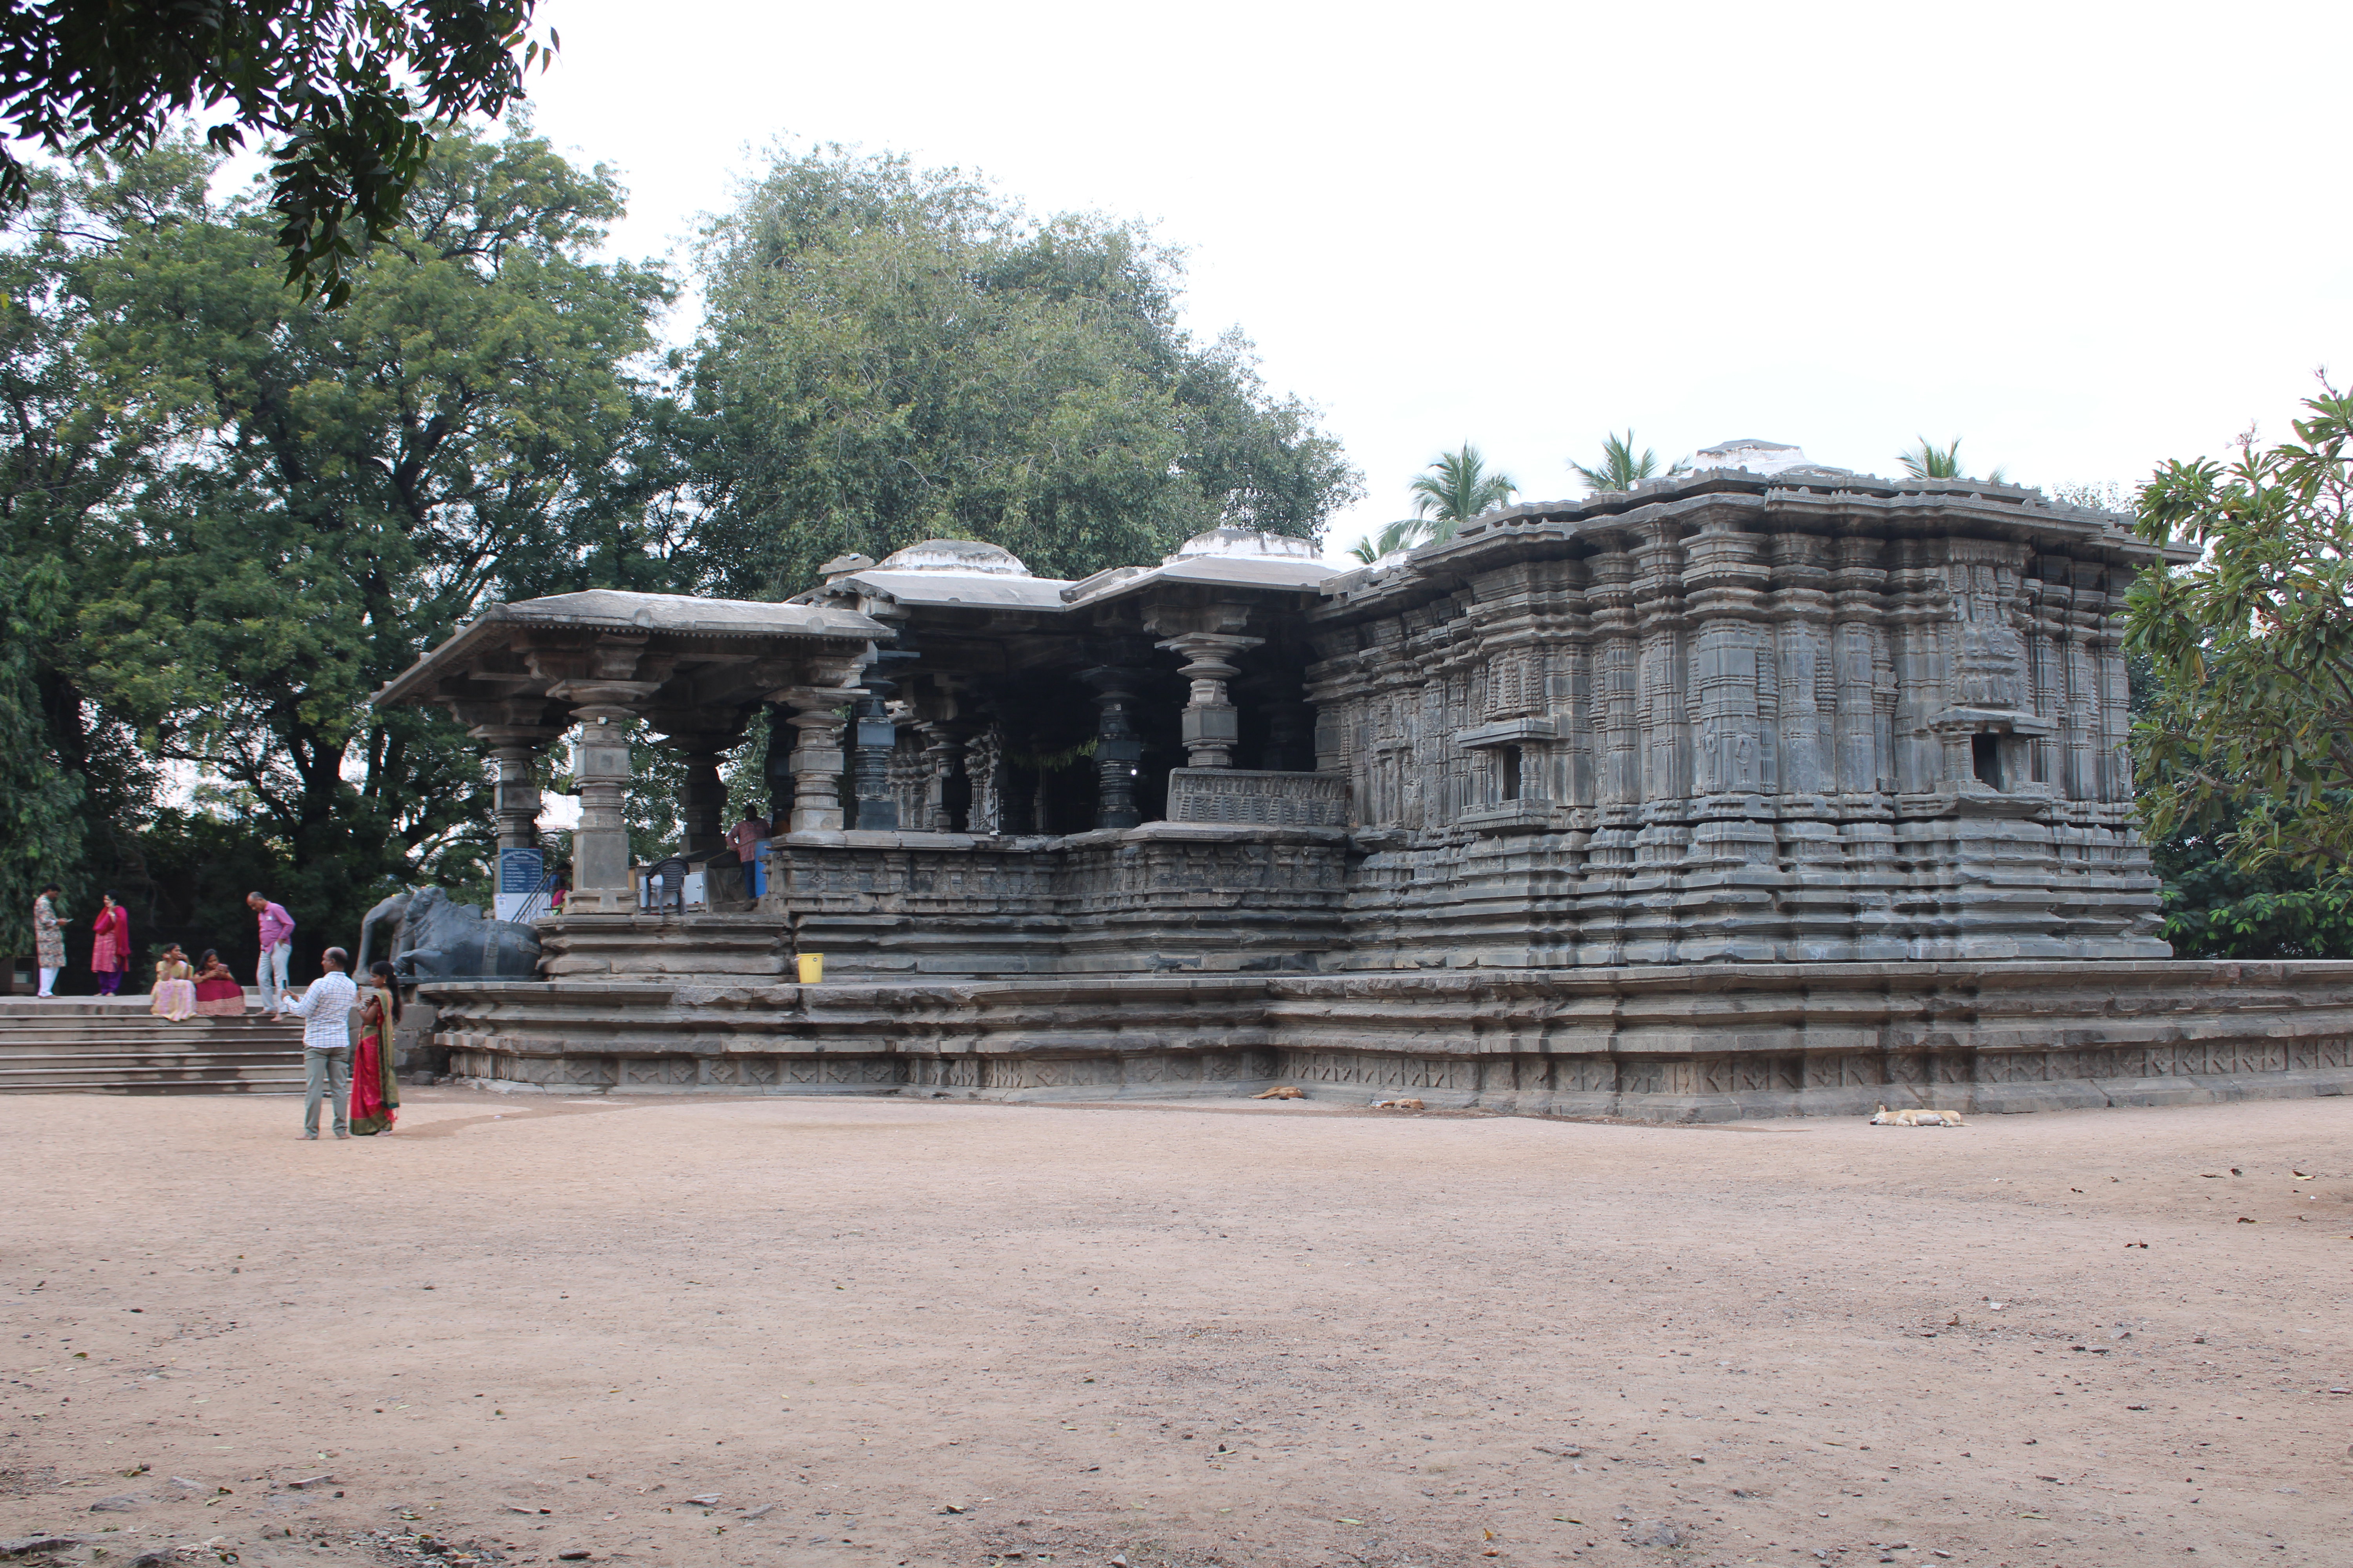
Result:
<svg viewBox="0 0 2353 1568">
<path fill-rule="evenodd" d="M 0 1549 L 2353 1561 L 2353 1103 L 296 1117 L 0 1100 Z"/>
</svg>

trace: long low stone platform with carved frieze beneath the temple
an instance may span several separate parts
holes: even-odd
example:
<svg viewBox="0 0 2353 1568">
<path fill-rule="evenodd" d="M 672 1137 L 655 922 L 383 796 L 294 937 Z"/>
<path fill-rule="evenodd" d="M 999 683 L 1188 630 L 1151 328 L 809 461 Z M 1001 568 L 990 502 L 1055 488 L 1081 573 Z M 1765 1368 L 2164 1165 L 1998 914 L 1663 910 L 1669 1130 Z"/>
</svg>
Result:
<svg viewBox="0 0 2353 1568">
<path fill-rule="evenodd" d="M 1939 961 L 435 985 L 461 1081 L 991 1100 L 1407 1093 L 1729 1121 L 2353 1091 L 2346 961 Z"/>
</svg>

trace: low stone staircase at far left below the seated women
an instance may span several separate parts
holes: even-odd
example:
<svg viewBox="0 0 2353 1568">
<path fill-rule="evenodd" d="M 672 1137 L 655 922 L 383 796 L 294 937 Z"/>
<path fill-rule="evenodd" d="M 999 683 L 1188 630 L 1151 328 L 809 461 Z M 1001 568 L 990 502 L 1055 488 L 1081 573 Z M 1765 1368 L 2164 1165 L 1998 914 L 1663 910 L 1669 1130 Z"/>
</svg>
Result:
<svg viewBox="0 0 2353 1568">
<path fill-rule="evenodd" d="M 247 1006 L 259 997 L 245 992 Z M 146 997 L 0 997 L 0 1093 L 301 1093 L 301 1018 L 165 1023 Z"/>
</svg>

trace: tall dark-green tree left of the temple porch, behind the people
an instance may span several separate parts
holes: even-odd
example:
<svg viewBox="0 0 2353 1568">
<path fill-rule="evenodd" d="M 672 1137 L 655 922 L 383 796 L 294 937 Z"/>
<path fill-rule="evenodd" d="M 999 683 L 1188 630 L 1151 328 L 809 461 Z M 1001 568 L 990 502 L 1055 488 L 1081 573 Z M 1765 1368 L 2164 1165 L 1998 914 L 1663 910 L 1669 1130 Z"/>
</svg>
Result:
<svg viewBox="0 0 2353 1568">
<path fill-rule="evenodd" d="M 600 552 L 647 569 L 612 559 L 609 496 L 652 418 L 624 362 L 671 287 L 588 261 L 612 174 L 520 129 L 435 143 L 339 313 L 278 284 L 268 214 L 212 207 L 207 174 L 167 146 L 75 197 L 104 235 L 73 261 L 78 355 L 99 402 L 167 440 L 92 534 L 71 661 L 285 844 L 313 910 L 466 882 L 475 748 L 367 696 L 515 583 L 579 585 Z"/>
</svg>

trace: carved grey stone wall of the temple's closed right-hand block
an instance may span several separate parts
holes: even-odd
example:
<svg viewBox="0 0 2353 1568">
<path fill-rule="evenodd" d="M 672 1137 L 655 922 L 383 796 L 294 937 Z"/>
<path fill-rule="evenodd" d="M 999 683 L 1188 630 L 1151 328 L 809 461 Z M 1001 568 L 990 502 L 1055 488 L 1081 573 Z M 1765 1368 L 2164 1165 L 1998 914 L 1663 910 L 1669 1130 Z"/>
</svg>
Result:
<svg viewBox="0 0 2353 1568">
<path fill-rule="evenodd" d="M 2115 628 L 2153 552 L 1840 484 L 1475 524 L 1313 611 L 1348 961 L 2162 957 Z"/>
</svg>

